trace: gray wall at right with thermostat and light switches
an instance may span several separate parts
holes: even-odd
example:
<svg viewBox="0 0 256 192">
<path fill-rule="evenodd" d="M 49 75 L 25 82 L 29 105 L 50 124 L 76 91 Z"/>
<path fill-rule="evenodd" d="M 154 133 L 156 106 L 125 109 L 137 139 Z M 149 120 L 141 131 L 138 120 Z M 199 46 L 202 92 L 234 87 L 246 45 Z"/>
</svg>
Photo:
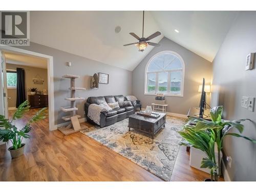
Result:
<svg viewBox="0 0 256 192">
<path fill-rule="evenodd" d="M 256 97 L 256 70 L 245 71 L 246 55 L 256 52 L 255 20 L 256 12 L 241 12 L 230 28 L 214 59 L 211 102 L 212 105 L 224 105 L 225 119 L 251 119 L 253 122 L 245 123 L 243 135 L 254 139 L 256 112 L 242 108 L 241 99 L 242 96 Z M 256 181 L 256 144 L 227 136 L 224 153 L 232 158 L 231 168 L 225 163 L 231 180 Z"/>
</svg>

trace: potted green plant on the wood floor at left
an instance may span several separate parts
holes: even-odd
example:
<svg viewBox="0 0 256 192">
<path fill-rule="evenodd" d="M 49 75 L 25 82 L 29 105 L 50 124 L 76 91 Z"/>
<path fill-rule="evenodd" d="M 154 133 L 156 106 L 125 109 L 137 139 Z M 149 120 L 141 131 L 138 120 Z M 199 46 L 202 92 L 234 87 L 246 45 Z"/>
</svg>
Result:
<svg viewBox="0 0 256 192">
<path fill-rule="evenodd" d="M 42 108 L 38 111 L 22 129 L 17 129 L 15 126 L 15 120 L 20 119 L 23 115 L 29 111 L 29 102 L 26 100 L 22 104 L 18 106 L 18 109 L 13 114 L 12 119 L 5 119 L 4 115 L 0 115 L 0 127 L 4 127 L 5 129 L 0 129 L 0 141 L 11 141 L 12 146 L 8 148 L 10 151 L 12 158 L 19 157 L 24 154 L 25 143 L 22 143 L 23 138 L 30 138 L 28 134 L 31 130 L 30 124 L 33 122 L 38 122 L 41 119 L 46 118 L 45 110 L 47 108 Z"/>
</svg>

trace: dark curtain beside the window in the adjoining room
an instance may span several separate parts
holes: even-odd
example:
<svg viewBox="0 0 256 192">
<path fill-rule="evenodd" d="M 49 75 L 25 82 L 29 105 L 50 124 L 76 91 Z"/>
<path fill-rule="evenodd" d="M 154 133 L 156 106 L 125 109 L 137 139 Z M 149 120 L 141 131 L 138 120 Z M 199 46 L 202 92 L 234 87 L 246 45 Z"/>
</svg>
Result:
<svg viewBox="0 0 256 192">
<path fill-rule="evenodd" d="M 17 68 L 17 99 L 16 108 L 24 101 L 26 101 L 25 94 L 25 70 L 22 68 Z"/>
</svg>

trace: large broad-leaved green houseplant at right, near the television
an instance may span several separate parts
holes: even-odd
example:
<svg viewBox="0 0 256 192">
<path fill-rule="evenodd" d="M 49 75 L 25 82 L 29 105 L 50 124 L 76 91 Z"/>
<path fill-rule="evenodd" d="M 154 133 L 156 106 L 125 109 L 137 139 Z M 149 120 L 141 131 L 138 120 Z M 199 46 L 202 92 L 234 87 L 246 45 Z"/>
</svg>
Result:
<svg viewBox="0 0 256 192">
<path fill-rule="evenodd" d="M 184 130 L 180 132 L 181 136 L 186 140 L 181 143 L 183 145 L 195 146 L 195 144 L 189 140 L 191 139 L 191 137 L 196 137 L 193 139 L 197 140 L 197 142 L 201 142 L 201 140 L 198 140 L 197 138 L 198 134 L 195 134 L 195 135 L 183 134 L 183 132 L 190 133 L 188 131 L 188 127 L 190 130 L 193 130 L 195 133 L 205 131 L 205 133 L 208 133 L 210 137 L 213 137 L 214 141 L 217 144 L 217 149 L 218 149 L 218 166 L 217 166 L 219 169 L 218 177 L 221 175 L 221 150 L 223 148 L 223 139 L 225 136 L 230 135 L 235 137 L 241 137 L 253 143 L 256 143 L 256 140 L 254 139 L 248 138 L 238 133 L 229 132 L 232 128 L 236 128 L 239 131 L 239 133 L 242 133 L 244 130 L 244 125 L 241 124 L 241 122 L 249 119 L 227 121 L 227 120 L 221 119 L 222 113 L 223 113 L 223 106 L 216 106 L 215 108 L 212 108 L 210 110 L 211 121 L 208 121 L 202 118 L 190 117 L 188 118 L 186 124 L 184 125 Z M 210 143 L 208 143 L 208 147 L 212 147 L 211 150 L 214 151 L 214 147 L 215 147 L 214 145 L 211 145 Z M 195 148 L 198 148 L 198 147 L 195 147 Z M 205 164 L 203 164 L 203 161 L 202 161 L 201 167 L 207 168 L 209 166 L 206 166 Z"/>
</svg>

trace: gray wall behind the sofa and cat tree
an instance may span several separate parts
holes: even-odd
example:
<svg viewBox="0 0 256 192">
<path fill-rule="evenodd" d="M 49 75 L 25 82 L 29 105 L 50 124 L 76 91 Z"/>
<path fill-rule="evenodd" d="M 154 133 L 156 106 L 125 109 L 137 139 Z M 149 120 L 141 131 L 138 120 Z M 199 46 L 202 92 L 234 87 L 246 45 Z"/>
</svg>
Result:
<svg viewBox="0 0 256 192">
<path fill-rule="evenodd" d="M 70 79 L 61 78 L 65 74 L 79 75 L 76 79 L 76 87 L 85 87 L 86 91 L 77 91 L 76 96 L 88 98 L 90 96 L 103 95 L 129 95 L 132 93 L 132 72 L 121 68 L 106 65 L 104 63 L 80 57 L 74 54 L 63 52 L 50 47 L 30 43 L 29 47 L 18 47 L 37 53 L 53 56 L 53 74 L 54 74 L 54 112 L 55 124 L 65 122 L 62 116 L 68 113 L 60 111 L 61 106 L 69 106 L 70 102 L 65 97 L 70 97 Z M 100 53 L 99 53 L 100 54 Z M 67 62 L 72 62 L 72 67 L 67 66 Z M 109 84 L 99 84 L 98 90 L 90 89 L 90 77 L 94 73 L 109 74 Z M 83 117 L 83 104 L 85 101 L 77 101 L 77 114 Z"/>
</svg>

